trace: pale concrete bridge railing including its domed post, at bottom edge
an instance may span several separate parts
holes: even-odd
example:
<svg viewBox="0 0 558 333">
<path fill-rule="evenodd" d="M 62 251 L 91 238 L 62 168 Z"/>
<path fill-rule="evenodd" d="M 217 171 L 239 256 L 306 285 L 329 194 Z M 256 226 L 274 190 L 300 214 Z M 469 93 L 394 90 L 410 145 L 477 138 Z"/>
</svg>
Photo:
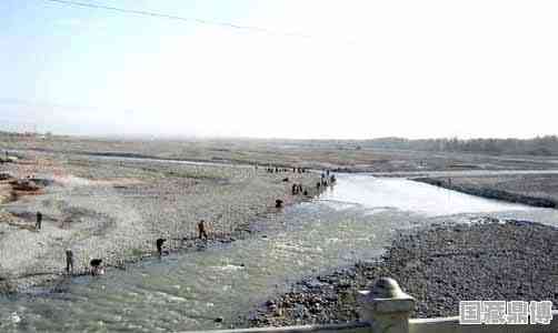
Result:
<svg viewBox="0 0 558 333">
<path fill-rule="evenodd" d="M 303 325 L 286 327 L 257 327 L 240 330 L 206 331 L 206 333 L 546 333 L 558 332 L 558 311 L 552 312 L 550 324 L 460 324 L 459 316 L 436 319 L 410 319 L 415 299 L 405 293 L 389 278 L 377 281 L 372 290 L 360 292 L 361 321 L 337 325 Z"/>
</svg>

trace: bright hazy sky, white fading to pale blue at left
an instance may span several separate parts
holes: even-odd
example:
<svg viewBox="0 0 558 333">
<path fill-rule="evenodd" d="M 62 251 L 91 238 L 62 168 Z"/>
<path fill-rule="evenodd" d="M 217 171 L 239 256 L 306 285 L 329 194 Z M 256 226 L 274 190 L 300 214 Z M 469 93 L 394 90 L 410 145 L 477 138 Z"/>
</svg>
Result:
<svg viewBox="0 0 558 333">
<path fill-rule="evenodd" d="M 1 0 L 0 128 L 318 139 L 558 133 L 558 1 L 81 1 L 278 33 Z"/>
</svg>

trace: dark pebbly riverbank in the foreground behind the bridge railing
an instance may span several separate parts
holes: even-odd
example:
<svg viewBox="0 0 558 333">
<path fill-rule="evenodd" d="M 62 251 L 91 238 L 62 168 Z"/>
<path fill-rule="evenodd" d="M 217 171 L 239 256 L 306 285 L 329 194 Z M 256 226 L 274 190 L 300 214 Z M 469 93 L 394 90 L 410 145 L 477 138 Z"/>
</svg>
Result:
<svg viewBox="0 0 558 333">
<path fill-rule="evenodd" d="M 358 320 L 356 294 L 380 276 L 417 300 L 413 317 L 458 315 L 462 300 L 558 302 L 558 229 L 530 222 L 434 225 L 401 234 L 380 260 L 308 278 L 240 326 Z"/>
</svg>

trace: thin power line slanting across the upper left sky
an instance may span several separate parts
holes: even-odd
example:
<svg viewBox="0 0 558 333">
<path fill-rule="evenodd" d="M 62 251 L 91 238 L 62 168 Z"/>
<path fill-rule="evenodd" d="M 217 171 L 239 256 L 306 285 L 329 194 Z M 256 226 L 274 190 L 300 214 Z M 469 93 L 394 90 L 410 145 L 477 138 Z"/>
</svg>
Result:
<svg viewBox="0 0 558 333">
<path fill-rule="evenodd" d="M 185 18 L 185 17 L 167 14 L 167 13 L 161 13 L 161 12 L 152 12 L 152 11 L 147 11 L 147 10 L 126 9 L 126 8 L 94 4 L 94 3 L 72 1 L 72 0 L 43 0 L 43 1 L 57 2 L 57 3 L 69 4 L 69 6 L 74 6 L 74 7 L 110 10 L 110 11 L 120 12 L 120 13 L 131 13 L 131 14 L 152 17 L 152 18 L 159 18 L 159 19 L 185 21 L 185 22 L 189 22 L 189 23 L 198 23 L 198 24 L 206 24 L 206 26 L 220 26 L 223 28 L 232 28 L 232 29 L 238 29 L 238 30 L 249 30 L 249 31 L 253 31 L 253 32 L 276 34 L 276 36 L 313 38 L 312 36 L 300 33 L 300 32 L 275 31 L 275 30 L 270 30 L 270 29 L 261 28 L 261 27 L 241 26 L 241 24 L 235 24 L 235 23 L 229 23 L 229 22 L 210 21 L 210 20 L 196 19 L 196 18 Z"/>
</svg>

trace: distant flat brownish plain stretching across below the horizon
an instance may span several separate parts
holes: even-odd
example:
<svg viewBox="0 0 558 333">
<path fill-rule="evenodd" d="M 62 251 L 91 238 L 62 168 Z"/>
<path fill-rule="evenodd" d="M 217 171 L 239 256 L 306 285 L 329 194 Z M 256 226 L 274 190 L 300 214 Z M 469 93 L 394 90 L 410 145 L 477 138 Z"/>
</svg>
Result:
<svg viewBox="0 0 558 333">
<path fill-rule="evenodd" d="M 0 133 L 1 149 L 250 165 L 272 164 L 330 169 L 336 172 L 549 170 L 558 167 L 558 160 L 554 157 L 381 149 L 350 140 L 102 139 Z"/>
</svg>

